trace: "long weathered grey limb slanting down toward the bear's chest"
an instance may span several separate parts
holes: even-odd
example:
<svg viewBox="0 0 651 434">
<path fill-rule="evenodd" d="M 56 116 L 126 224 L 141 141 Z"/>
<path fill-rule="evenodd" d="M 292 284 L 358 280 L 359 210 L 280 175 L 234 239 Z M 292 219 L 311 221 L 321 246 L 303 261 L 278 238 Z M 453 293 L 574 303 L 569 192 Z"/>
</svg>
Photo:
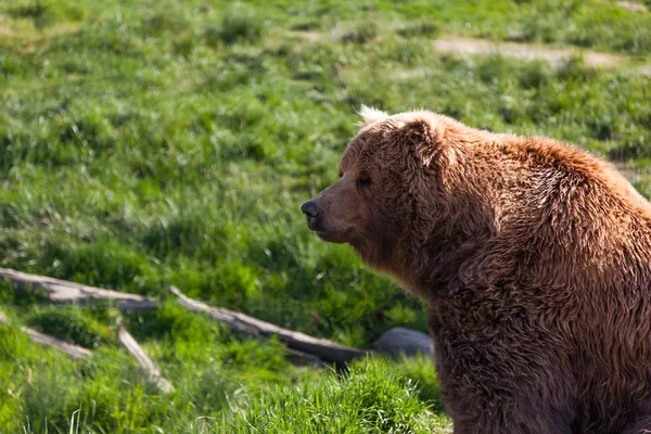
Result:
<svg viewBox="0 0 651 434">
<path fill-rule="evenodd" d="M 330 362 L 346 362 L 362 357 L 369 352 L 350 348 L 324 339 L 317 339 L 305 333 L 283 329 L 270 322 L 250 317 L 244 314 L 220 307 L 208 306 L 184 295 L 178 289 L 169 286 L 169 291 L 179 297 L 179 301 L 193 311 L 203 311 L 213 319 L 224 322 L 235 332 L 241 332 L 259 337 L 278 336 L 278 339 L 292 349 L 308 353 Z"/>
</svg>

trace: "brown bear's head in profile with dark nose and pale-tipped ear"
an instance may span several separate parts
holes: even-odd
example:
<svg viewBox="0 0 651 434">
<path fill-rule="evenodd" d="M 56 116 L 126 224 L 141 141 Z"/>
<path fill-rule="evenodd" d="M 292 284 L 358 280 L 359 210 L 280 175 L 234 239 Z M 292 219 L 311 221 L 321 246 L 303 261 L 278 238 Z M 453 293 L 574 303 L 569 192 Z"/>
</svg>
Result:
<svg viewBox="0 0 651 434">
<path fill-rule="evenodd" d="M 444 145 L 443 116 L 390 116 L 365 106 L 360 114 L 361 128 L 341 159 L 340 180 L 301 209 L 319 238 L 348 243 L 367 264 L 395 275 L 392 268 L 419 235 L 417 214 L 436 203 L 432 195 L 441 165 L 455 155 Z"/>
</svg>

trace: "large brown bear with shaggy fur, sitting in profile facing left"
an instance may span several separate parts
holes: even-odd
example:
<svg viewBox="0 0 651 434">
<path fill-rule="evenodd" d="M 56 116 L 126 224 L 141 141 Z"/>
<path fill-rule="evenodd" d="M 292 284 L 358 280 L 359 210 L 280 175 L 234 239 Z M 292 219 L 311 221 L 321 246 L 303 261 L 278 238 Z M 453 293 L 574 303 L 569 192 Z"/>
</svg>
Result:
<svg viewBox="0 0 651 434">
<path fill-rule="evenodd" d="M 302 210 L 425 302 L 455 433 L 651 430 L 651 205 L 551 139 L 361 114 Z"/>
</svg>

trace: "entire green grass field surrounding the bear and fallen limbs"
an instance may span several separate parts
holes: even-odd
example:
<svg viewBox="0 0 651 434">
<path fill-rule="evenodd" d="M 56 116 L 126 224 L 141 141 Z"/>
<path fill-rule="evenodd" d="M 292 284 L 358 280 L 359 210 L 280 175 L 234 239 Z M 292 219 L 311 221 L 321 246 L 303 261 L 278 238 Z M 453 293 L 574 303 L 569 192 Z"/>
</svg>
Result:
<svg viewBox="0 0 651 434">
<path fill-rule="evenodd" d="M 444 36 L 622 62 L 441 54 Z M 359 105 L 570 141 L 649 197 L 648 65 L 651 13 L 605 0 L 0 0 L 0 267 L 159 298 L 174 284 L 360 347 L 426 330 L 417 299 L 298 210 L 336 178 Z M 1 327 L 1 433 L 448 425 L 424 359 L 297 368 L 278 342 L 237 341 L 169 299 L 124 318 L 175 385 L 164 396 L 118 349 L 115 309 L 34 305 L 8 285 L 0 308 L 93 349 L 72 361 Z"/>
</svg>

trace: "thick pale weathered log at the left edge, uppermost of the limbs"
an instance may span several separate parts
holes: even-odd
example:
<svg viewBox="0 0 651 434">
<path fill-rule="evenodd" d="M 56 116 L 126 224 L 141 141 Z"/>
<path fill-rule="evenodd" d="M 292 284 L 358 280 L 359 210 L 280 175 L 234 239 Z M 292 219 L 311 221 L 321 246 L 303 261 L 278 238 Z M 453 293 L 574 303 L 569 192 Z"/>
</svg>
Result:
<svg viewBox="0 0 651 434">
<path fill-rule="evenodd" d="M 46 276 L 28 275 L 21 271 L 0 268 L 0 281 L 9 280 L 14 288 L 24 293 L 44 296 L 51 303 L 85 304 L 98 301 L 112 301 L 122 310 L 144 311 L 155 306 L 155 301 L 137 294 L 103 290 L 79 283 L 49 278 Z"/>
</svg>

